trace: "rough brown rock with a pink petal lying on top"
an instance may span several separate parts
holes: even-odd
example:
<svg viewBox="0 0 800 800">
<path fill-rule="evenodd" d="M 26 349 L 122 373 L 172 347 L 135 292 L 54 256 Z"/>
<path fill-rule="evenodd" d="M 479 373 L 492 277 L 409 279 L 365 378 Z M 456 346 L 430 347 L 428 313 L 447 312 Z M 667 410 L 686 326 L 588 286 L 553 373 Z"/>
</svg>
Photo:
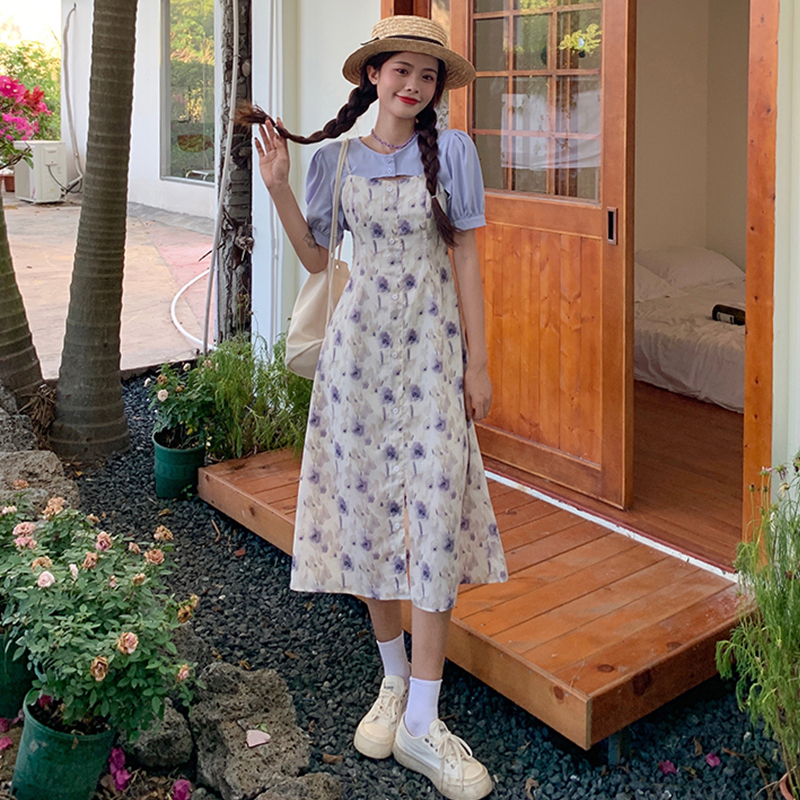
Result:
<svg viewBox="0 0 800 800">
<path fill-rule="evenodd" d="M 205 688 L 195 693 L 189 722 L 200 783 L 223 800 L 243 800 L 308 767 L 308 737 L 297 725 L 286 683 L 277 672 L 247 672 L 217 662 L 203 670 L 199 682 Z M 248 748 L 247 730 L 260 726 L 270 742 Z"/>
</svg>

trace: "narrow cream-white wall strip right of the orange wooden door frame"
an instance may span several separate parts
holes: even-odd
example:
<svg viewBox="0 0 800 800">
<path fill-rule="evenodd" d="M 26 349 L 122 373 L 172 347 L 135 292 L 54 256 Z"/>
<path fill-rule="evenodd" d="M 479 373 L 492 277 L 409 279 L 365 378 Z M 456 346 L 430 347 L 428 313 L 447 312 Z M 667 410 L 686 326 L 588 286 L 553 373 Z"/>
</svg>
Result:
<svg viewBox="0 0 800 800">
<path fill-rule="evenodd" d="M 800 0 L 781 0 L 778 48 L 773 464 L 800 449 Z"/>
</svg>

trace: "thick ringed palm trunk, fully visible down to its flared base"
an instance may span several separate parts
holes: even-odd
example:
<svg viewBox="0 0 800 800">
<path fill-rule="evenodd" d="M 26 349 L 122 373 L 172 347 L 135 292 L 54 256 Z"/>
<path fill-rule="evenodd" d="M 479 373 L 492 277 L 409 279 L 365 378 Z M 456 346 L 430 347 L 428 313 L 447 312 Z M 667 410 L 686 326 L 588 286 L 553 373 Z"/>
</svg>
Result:
<svg viewBox="0 0 800 800">
<path fill-rule="evenodd" d="M 93 460 L 128 449 L 120 380 L 136 0 L 95 0 L 89 136 L 52 446 Z"/>
</svg>

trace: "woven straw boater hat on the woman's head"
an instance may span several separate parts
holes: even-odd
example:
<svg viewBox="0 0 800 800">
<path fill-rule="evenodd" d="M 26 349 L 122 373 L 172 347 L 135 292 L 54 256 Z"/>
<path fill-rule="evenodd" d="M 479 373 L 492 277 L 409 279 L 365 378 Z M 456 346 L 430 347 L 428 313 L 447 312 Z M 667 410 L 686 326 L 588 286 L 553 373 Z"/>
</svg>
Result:
<svg viewBox="0 0 800 800">
<path fill-rule="evenodd" d="M 457 89 L 475 79 L 475 67 L 449 48 L 444 28 L 426 17 L 410 14 L 382 19 L 372 29 L 370 41 L 348 56 L 342 74 L 350 83 L 358 84 L 361 70 L 372 56 L 393 52 L 424 53 L 441 59 L 447 69 L 445 89 Z"/>
</svg>

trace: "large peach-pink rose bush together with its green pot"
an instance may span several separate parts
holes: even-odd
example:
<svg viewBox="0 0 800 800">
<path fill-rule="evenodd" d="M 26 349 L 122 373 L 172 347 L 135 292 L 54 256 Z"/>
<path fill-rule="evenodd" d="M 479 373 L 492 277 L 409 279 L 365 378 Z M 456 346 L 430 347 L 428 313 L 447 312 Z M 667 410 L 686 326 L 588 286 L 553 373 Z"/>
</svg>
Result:
<svg viewBox="0 0 800 800">
<path fill-rule="evenodd" d="M 172 634 L 197 600 L 178 604 L 164 591 L 172 534 L 159 526 L 136 542 L 97 523 L 51 501 L 0 568 L 3 623 L 37 675 L 14 768 L 18 800 L 89 800 L 116 731 L 135 739 L 168 695 L 190 699 L 191 666 L 177 660 Z"/>
</svg>

